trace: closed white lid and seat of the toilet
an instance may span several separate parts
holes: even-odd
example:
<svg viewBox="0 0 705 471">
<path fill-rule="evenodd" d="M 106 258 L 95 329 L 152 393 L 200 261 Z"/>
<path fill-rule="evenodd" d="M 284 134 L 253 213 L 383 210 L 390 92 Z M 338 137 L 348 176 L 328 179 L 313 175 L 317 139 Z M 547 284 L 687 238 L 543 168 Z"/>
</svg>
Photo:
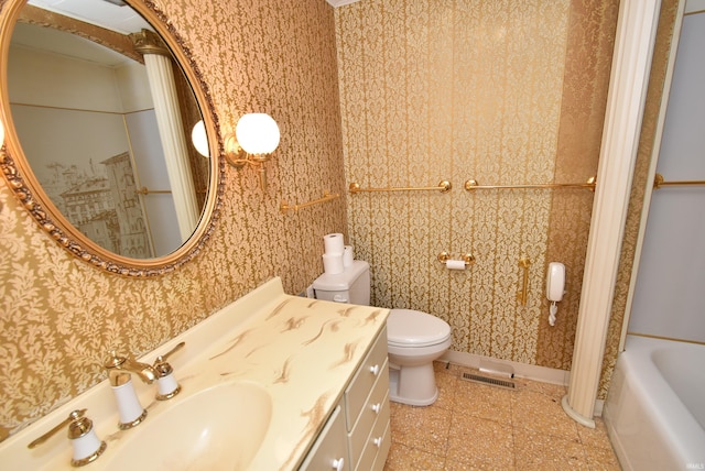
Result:
<svg viewBox="0 0 705 471">
<path fill-rule="evenodd" d="M 413 309 L 391 309 L 387 319 L 390 347 L 429 347 L 451 338 L 451 326 L 435 316 Z"/>
</svg>

